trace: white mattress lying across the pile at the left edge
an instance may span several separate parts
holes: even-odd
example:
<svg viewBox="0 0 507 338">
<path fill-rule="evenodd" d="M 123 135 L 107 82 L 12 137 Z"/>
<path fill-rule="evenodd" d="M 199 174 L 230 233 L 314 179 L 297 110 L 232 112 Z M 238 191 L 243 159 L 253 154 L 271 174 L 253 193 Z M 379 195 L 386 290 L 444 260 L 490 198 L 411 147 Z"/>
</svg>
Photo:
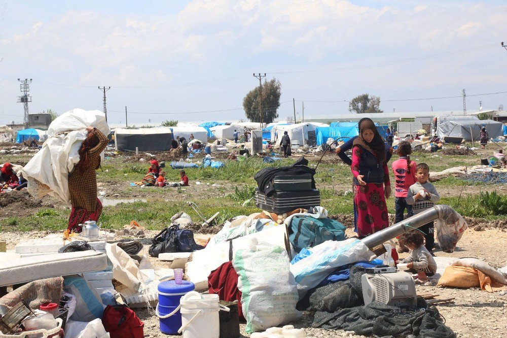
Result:
<svg viewBox="0 0 507 338">
<path fill-rule="evenodd" d="M 42 278 L 68 276 L 107 268 L 107 256 L 97 251 L 67 252 L 0 261 L 0 286 Z"/>
</svg>

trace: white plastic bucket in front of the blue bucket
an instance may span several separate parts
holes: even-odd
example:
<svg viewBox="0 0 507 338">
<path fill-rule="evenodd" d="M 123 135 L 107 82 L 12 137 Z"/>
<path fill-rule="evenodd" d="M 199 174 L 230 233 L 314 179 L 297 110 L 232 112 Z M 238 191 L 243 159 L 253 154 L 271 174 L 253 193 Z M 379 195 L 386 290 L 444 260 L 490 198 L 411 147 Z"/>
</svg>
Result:
<svg viewBox="0 0 507 338">
<path fill-rule="evenodd" d="M 219 338 L 219 311 L 229 308 L 219 303 L 218 294 L 202 294 L 201 298 L 190 298 L 180 301 L 182 314 L 183 338 Z"/>
</svg>

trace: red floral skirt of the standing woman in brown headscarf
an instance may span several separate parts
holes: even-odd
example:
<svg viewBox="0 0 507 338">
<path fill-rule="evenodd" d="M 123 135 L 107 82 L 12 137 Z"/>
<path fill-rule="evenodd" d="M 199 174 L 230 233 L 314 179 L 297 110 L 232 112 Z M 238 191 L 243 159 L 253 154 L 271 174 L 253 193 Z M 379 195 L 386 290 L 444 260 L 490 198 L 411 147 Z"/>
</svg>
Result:
<svg viewBox="0 0 507 338">
<path fill-rule="evenodd" d="M 354 225 L 359 238 L 389 226 L 383 184 L 367 183 L 354 186 L 354 207 L 357 210 Z"/>
</svg>

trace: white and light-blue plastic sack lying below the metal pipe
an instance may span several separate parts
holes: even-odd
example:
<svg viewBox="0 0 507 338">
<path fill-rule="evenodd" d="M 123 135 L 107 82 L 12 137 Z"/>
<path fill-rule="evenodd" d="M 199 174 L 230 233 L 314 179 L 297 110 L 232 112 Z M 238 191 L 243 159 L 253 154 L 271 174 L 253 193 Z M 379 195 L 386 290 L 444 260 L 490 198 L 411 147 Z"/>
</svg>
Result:
<svg viewBox="0 0 507 338">
<path fill-rule="evenodd" d="M 374 256 L 363 242 L 352 238 L 340 242 L 325 241 L 311 248 L 311 252 L 310 256 L 291 265 L 300 299 L 338 266 L 370 260 Z"/>
</svg>

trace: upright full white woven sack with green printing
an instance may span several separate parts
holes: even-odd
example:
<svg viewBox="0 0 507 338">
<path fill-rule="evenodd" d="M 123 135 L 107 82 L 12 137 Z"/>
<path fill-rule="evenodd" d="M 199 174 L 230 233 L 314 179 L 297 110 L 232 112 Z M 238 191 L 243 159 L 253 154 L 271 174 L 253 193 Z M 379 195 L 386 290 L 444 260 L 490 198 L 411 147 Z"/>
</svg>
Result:
<svg viewBox="0 0 507 338">
<path fill-rule="evenodd" d="M 246 332 L 266 330 L 301 317 L 296 310 L 296 281 L 284 249 L 252 239 L 248 249 L 236 252 L 232 264 L 242 293 Z"/>
</svg>

